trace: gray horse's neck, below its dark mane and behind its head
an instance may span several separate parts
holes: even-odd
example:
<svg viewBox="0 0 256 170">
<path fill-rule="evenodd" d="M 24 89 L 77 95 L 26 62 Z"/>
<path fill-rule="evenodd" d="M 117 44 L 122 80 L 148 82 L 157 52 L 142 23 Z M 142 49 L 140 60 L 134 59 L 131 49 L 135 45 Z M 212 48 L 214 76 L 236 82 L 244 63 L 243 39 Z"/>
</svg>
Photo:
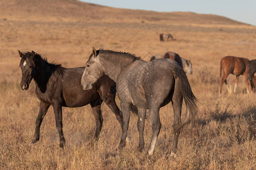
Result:
<svg viewBox="0 0 256 170">
<path fill-rule="evenodd" d="M 103 61 L 101 62 L 101 65 L 105 69 L 105 74 L 108 75 L 110 79 L 114 80 L 114 82 L 117 82 L 121 71 L 134 62 L 133 59 L 122 57 L 122 55 L 113 55 L 112 57 L 105 58 L 102 57 L 100 60 Z"/>
</svg>

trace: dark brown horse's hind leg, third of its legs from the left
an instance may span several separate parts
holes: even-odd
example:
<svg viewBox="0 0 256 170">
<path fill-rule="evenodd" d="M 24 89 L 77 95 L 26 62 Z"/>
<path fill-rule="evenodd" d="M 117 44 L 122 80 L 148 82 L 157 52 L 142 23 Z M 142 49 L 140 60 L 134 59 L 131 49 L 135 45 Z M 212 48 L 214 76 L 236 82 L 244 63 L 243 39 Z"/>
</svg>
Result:
<svg viewBox="0 0 256 170">
<path fill-rule="evenodd" d="M 96 140 L 98 139 L 98 135 L 100 135 L 100 131 L 101 131 L 102 124 L 103 124 L 103 117 L 101 114 L 101 102 L 102 102 L 102 100 L 97 100 L 97 101 L 90 103 L 90 106 L 92 107 L 93 115 L 94 115 L 95 121 L 96 121 L 96 131 L 94 134 L 94 138 Z"/>
</svg>

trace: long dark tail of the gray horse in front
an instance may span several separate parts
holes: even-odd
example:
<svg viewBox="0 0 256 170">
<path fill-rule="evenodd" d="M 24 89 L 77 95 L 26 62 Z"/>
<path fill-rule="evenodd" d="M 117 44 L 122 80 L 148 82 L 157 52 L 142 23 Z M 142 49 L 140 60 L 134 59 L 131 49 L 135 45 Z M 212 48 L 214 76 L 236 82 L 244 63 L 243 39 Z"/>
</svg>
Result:
<svg viewBox="0 0 256 170">
<path fill-rule="evenodd" d="M 175 81 L 175 86 L 181 86 L 181 93 L 183 95 L 183 99 L 186 104 L 186 113 L 187 117 L 181 124 L 174 128 L 174 133 L 176 133 L 178 130 L 180 130 L 183 126 L 188 124 L 189 120 L 195 121 L 196 113 L 199 111 L 197 108 L 196 102 L 197 98 L 193 94 L 191 90 L 191 86 L 188 82 L 187 75 L 185 74 L 184 70 L 180 67 L 175 67 L 173 70 L 175 79 L 179 78 L 180 83 L 176 84 L 177 81 Z"/>
</svg>

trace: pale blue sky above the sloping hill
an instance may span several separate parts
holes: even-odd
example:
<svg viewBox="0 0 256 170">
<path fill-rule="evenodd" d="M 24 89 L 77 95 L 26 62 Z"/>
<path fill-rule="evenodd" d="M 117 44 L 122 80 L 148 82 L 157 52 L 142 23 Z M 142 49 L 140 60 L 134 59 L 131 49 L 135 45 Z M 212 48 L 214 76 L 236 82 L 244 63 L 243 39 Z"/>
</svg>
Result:
<svg viewBox="0 0 256 170">
<path fill-rule="evenodd" d="M 160 12 L 189 11 L 216 14 L 256 25 L 256 0 L 80 0 L 98 5 Z"/>
</svg>

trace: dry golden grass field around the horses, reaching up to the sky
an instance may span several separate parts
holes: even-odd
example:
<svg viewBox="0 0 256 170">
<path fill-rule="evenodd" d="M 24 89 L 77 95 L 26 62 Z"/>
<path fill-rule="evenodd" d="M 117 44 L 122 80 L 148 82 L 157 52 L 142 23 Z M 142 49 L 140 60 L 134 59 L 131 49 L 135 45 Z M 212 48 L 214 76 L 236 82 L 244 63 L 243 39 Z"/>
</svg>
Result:
<svg viewBox="0 0 256 170">
<path fill-rule="evenodd" d="M 176 41 L 160 42 L 159 33 L 171 33 Z M 59 148 L 51 107 L 40 141 L 31 144 L 39 100 L 34 82 L 27 91 L 19 86 L 18 50 L 34 50 L 48 61 L 79 67 L 85 65 L 92 47 L 101 44 L 146 61 L 151 57 L 148 52 L 167 51 L 191 59 L 193 74 L 188 79 L 200 111 L 196 126 L 188 124 L 180 134 L 177 158 L 167 154 L 174 120 L 171 104 L 160 109 L 162 129 L 151 157 L 146 155 L 150 120 L 145 124 L 145 150 L 137 150 L 137 117 L 131 116 L 130 139 L 119 152 L 121 127 L 105 104 L 98 141 L 92 140 L 94 116 L 86 105 L 63 108 L 64 150 Z M 222 96 L 218 95 L 220 59 L 227 55 L 255 59 L 256 27 L 191 12 L 124 10 L 75 0 L 1 0 L 0 169 L 256 169 L 256 95 L 246 94 L 243 76 L 236 94 L 224 84 Z M 234 80 L 229 75 L 232 88 Z"/>
</svg>

